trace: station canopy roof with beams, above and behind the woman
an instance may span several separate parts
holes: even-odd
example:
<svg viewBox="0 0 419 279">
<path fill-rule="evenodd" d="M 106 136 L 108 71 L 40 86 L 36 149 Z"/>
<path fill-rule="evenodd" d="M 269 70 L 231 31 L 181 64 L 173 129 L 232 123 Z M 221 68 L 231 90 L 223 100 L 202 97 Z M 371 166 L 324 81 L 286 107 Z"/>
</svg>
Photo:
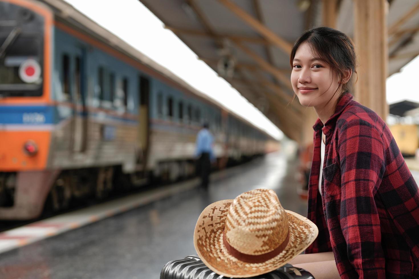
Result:
<svg viewBox="0 0 419 279">
<path fill-rule="evenodd" d="M 140 1 L 280 129 L 283 121 L 296 130 L 304 121 L 290 84 L 290 51 L 298 36 L 322 26 L 334 1 L 336 29 L 354 38 L 354 0 Z M 388 2 L 390 76 L 419 55 L 419 1 Z"/>
</svg>

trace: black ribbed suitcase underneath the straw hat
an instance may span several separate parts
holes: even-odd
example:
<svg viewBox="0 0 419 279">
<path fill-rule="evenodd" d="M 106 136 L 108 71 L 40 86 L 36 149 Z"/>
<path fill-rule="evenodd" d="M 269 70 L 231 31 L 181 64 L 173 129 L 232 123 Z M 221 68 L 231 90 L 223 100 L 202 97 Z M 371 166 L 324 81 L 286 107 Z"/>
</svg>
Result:
<svg viewBox="0 0 419 279">
<path fill-rule="evenodd" d="M 160 279 L 228 279 L 209 269 L 197 255 L 185 259 L 169 261 L 161 270 Z M 285 264 L 269 273 L 250 277 L 248 279 L 314 279 L 304 269 Z"/>
</svg>

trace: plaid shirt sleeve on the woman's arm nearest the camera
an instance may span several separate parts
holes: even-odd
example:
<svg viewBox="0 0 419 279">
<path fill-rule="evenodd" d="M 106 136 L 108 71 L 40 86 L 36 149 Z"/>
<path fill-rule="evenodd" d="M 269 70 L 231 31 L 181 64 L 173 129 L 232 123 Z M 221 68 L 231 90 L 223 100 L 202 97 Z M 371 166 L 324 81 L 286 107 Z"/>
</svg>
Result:
<svg viewBox="0 0 419 279">
<path fill-rule="evenodd" d="M 374 200 L 385 171 L 381 133 L 365 120 L 351 120 L 339 132 L 338 148 L 340 223 L 348 259 L 360 279 L 385 278 L 380 218 Z"/>
</svg>

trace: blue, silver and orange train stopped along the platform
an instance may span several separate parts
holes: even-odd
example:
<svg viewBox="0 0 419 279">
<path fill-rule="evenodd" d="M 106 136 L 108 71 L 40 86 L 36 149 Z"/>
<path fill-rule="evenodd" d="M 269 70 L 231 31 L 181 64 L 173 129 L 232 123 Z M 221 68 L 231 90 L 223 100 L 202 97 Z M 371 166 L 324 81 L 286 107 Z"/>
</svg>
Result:
<svg viewBox="0 0 419 279">
<path fill-rule="evenodd" d="M 203 121 L 219 166 L 275 142 L 66 2 L 0 0 L 0 220 L 190 177 Z"/>
</svg>

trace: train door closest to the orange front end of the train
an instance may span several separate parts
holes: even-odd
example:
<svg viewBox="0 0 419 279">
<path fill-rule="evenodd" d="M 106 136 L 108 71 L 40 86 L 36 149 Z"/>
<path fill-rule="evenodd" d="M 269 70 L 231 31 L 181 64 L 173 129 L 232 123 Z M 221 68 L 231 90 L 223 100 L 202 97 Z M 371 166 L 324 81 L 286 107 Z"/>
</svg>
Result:
<svg viewBox="0 0 419 279">
<path fill-rule="evenodd" d="M 87 110 L 85 86 L 85 49 L 80 49 L 74 60 L 74 125 L 73 125 L 73 152 L 82 153 L 86 149 L 87 139 Z"/>
</svg>

